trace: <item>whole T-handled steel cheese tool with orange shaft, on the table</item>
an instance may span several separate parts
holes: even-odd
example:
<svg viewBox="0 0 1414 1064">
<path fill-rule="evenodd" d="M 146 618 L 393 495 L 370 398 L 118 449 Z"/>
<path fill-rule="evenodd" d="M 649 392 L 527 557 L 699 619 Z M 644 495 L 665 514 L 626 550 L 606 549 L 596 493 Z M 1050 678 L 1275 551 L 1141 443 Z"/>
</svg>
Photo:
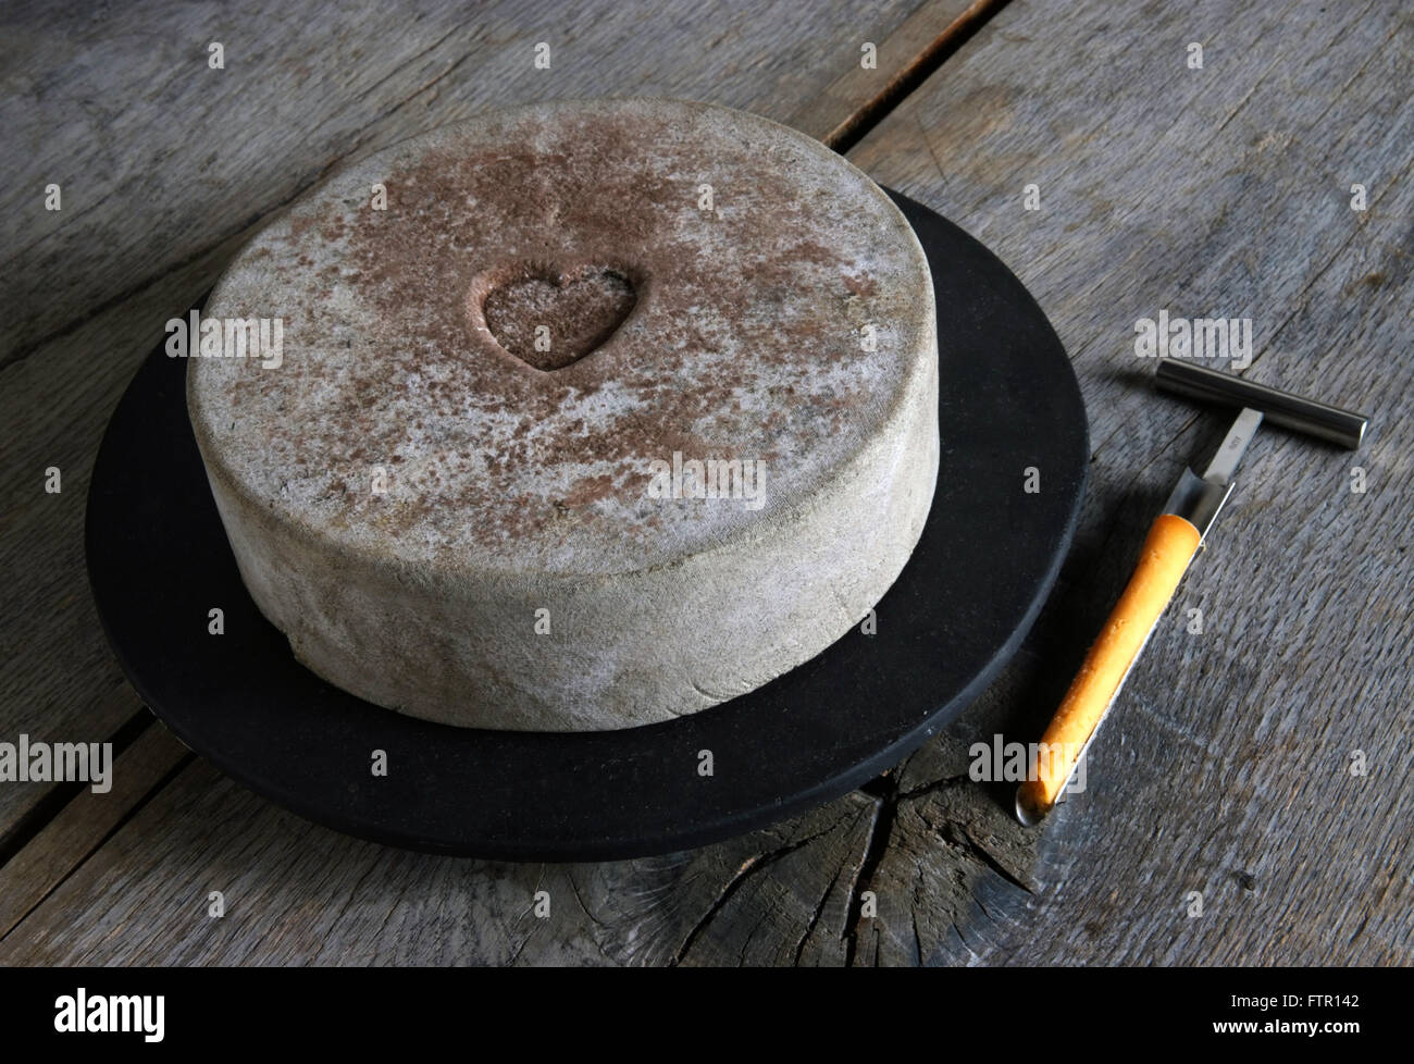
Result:
<svg viewBox="0 0 1414 1064">
<path fill-rule="evenodd" d="M 1241 413 L 1202 477 L 1184 470 L 1150 529 L 1134 576 L 1046 727 L 1027 780 L 1017 788 L 1017 819 L 1025 825 L 1038 823 L 1055 808 L 1075 763 L 1094 739 L 1178 582 L 1232 495 L 1233 473 L 1263 419 L 1350 450 L 1365 436 L 1367 419 L 1362 415 L 1192 362 L 1159 362 L 1155 382 L 1165 392 L 1241 407 Z"/>
</svg>

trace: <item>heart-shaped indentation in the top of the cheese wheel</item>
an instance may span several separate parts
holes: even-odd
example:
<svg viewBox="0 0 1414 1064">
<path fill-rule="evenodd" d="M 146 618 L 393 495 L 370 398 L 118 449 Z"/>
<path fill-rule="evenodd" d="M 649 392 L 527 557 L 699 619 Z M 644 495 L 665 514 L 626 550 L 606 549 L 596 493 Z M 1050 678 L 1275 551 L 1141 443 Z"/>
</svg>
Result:
<svg viewBox="0 0 1414 1064">
<path fill-rule="evenodd" d="M 617 266 L 526 263 L 484 274 L 471 310 L 502 348 L 536 369 L 563 369 L 601 347 L 638 303 Z"/>
</svg>

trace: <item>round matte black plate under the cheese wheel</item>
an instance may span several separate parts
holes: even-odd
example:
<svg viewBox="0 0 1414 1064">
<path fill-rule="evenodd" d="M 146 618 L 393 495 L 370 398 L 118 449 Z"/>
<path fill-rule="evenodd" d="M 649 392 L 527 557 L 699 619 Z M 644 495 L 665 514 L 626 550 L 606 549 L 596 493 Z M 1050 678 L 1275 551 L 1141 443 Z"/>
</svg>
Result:
<svg viewBox="0 0 1414 1064">
<path fill-rule="evenodd" d="M 86 549 L 99 615 L 153 712 L 311 821 L 437 853 L 608 860 L 687 849 L 834 798 L 962 712 L 1015 652 L 1075 531 L 1085 406 L 1041 308 L 957 226 L 891 192 L 928 252 L 942 466 L 922 540 L 858 628 L 742 698 L 624 732 L 478 732 L 400 716 L 300 665 L 246 593 L 161 347 L 103 437 Z M 1041 491 L 1027 494 L 1027 467 Z M 208 611 L 225 634 L 208 634 Z M 375 750 L 387 775 L 372 775 Z M 699 773 L 699 753 L 713 774 Z"/>
</svg>

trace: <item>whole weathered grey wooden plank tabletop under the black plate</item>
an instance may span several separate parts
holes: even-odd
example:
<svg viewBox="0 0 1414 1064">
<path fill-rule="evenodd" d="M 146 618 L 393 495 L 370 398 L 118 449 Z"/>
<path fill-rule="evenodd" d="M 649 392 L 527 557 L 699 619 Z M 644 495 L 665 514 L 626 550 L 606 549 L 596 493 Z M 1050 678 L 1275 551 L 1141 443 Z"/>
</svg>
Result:
<svg viewBox="0 0 1414 1064">
<path fill-rule="evenodd" d="M 1407 6 L 666 7 L 0 11 L 0 741 L 119 751 L 109 794 L 0 782 L 0 964 L 1414 961 Z M 795 125 L 986 242 L 1080 379 L 1080 529 L 978 705 L 809 815 L 574 866 L 349 839 L 187 753 L 124 682 L 83 567 L 98 441 L 163 323 L 332 167 L 486 106 L 592 95 Z M 1159 311 L 1251 318 L 1243 375 L 1372 427 L 1355 454 L 1258 437 L 1087 790 L 1028 832 L 969 778 L 969 747 L 1039 736 L 1172 481 L 1226 429 L 1150 386 L 1134 327 Z"/>
</svg>

